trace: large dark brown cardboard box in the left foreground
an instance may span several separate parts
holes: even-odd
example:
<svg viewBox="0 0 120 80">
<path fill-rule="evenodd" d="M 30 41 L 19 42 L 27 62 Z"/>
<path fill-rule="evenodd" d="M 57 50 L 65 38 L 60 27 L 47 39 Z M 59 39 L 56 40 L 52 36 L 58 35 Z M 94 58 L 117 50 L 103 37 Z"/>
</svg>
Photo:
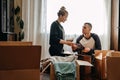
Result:
<svg viewBox="0 0 120 80">
<path fill-rule="evenodd" d="M 0 46 L 0 80 L 40 80 L 41 46 Z"/>
</svg>

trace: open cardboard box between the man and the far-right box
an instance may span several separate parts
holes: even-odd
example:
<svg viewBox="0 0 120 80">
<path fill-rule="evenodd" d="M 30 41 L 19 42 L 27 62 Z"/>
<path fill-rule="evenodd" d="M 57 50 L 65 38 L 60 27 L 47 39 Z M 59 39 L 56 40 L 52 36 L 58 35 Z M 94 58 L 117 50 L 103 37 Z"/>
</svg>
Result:
<svg viewBox="0 0 120 80">
<path fill-rule="evenodd" d="M 106 56 L 114 50 L 95 50 L 95 67 L 101 79 L 107 78 Z"/>
</svg>

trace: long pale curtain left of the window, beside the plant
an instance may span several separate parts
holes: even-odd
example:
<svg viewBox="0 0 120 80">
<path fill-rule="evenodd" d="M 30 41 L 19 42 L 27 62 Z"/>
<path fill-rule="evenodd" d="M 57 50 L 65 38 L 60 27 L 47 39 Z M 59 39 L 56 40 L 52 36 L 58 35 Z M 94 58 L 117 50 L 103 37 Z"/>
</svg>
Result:
<svg viewBox="0 0 120 80">
<path fill-rule="evenodd" d="M 22 0 L 22 18 L 25 38 L 33 45 L 41 45 L 41 59 L 49 56 L 46 33 L 46 0 Z"/>
</svg>

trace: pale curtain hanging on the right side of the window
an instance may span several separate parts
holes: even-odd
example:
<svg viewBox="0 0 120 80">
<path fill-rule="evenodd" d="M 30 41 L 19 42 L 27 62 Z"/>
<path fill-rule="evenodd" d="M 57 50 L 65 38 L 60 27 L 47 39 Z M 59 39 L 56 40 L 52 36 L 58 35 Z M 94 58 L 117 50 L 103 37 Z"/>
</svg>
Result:
<svg viewBox="0 0 120 80">
<path fill-rule="evenodd" d="M 111 36 L 111 0 L 103 0 L 104 4 L 104 29 L 103 34 L 100 35 L 102 49 L 110 49 L 110 36 Z"/>
</svg>

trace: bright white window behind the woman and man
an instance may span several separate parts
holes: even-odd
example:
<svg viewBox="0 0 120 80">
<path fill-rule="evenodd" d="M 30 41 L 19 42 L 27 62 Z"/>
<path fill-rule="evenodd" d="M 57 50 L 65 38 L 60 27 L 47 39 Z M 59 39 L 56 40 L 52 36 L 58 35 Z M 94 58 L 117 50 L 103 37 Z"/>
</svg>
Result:
<svg viewBox="0 0 120 80">
<path fill-rule="evenodd" d="M 85 22 L 93 25 L 92 32 L 102 35 L 105 28 L 104 0 L 47 0 L 47 30 L 50 31 L 51 23 L 57 19 L 57 12 L 65 6 L 69 12 L 68 19 L 62 25 L 65 33 L 81 34 Z"/>
</svg>

